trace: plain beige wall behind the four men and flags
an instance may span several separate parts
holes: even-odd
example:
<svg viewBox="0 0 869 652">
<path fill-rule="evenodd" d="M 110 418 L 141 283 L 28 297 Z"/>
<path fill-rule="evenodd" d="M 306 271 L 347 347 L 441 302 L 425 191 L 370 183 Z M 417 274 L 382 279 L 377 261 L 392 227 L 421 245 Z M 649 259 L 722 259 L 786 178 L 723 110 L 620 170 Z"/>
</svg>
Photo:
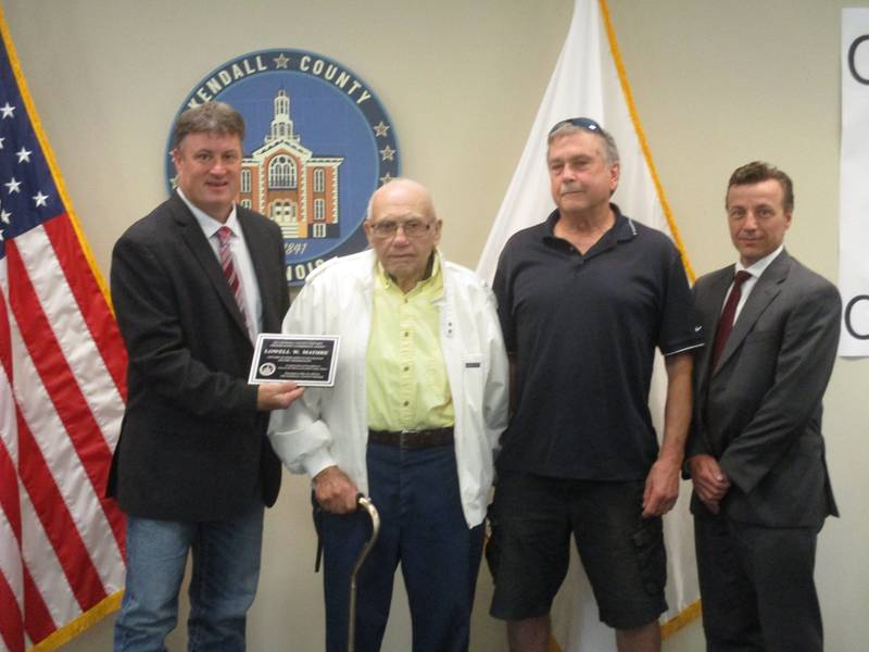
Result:
<svg viewBox="0 0 869 652">
<path fill-rule="evenodd" d="M 609 0 L 658 172 L 697 272 L 733 260 L 722 198 L 734 167 L 766 159 L 794 178 L 792 253 L 837 274 L 840 0 Z M 854 4 L 848 2 L 847 4 Z M 571 0 L 2 0 L 45 129 L 98 263 L 161 201 L 179 102 L 214 66 L 291 47 L 373 85 L 399 133 L 404 173 L 445 220 L 443 248 L 474 265 L 530 128 Z M 542 218 L 542 216 L 541 216 Z M 827 396 L 829 464 L 843 518 L 820 538 L 828 649 L 869 637 L 866 361 L 840 361 Z M 319 578 L 302 478 L 266 521 L 252 650 L 322 649 Z M 503 650 L 481 575 L 473 649 Z M 399 605 L 385 652 L 410 648 Z M 110 648 L 111 618 L 71 651 Z M 694 626 L 668 644 L 702 649 Z M 181 636 L 173 639 L 180 649 Z"/>
</svg>

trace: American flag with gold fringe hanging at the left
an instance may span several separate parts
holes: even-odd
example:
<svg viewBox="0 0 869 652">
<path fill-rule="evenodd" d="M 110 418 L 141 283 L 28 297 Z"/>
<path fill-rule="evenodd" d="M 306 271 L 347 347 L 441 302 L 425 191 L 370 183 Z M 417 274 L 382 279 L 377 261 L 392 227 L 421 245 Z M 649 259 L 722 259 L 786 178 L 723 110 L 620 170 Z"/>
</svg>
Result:
<svg viewBox="0 0 869 652">
<path fill-rule="evenodd" d="M 117 607 L 126 353 L 0 13 L 0 651 Z"/>
</svg>

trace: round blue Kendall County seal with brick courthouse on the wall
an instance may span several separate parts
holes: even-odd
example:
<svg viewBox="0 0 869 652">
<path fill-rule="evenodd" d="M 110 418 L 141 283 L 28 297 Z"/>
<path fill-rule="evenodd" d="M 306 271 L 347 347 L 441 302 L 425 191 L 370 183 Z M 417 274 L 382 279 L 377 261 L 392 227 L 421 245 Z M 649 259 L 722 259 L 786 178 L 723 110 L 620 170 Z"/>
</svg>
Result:
<svg viewBox="0 0 869 652">
<path fill-rule="evenodd" d="M 238 203 L 280 226 L 290 286 L 367 246 L 368 198 L 400 173 L 395 129 L 370 86 L 328 57 L 264 50 L 205 75 L 175 118 L 210 100 L 244 116 Z M 172 190 L 172 133 L 166 153 Z"/>
</svg>

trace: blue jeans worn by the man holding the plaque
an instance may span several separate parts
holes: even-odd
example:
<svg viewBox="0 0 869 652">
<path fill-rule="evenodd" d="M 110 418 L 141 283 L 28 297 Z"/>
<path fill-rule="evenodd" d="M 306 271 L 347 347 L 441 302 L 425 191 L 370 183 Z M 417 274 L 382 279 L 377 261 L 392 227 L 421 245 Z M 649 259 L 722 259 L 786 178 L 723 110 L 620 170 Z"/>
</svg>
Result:
<svg viewBox="0 0 869 652">
<path fill-rule="evenodd" d="M 244 624 L 260 579 L 264 506 L 232 521 L 127 516 L 127 582 L 115 652 L 163 652 L 178 622 L 178 590 L 192 549 L 188 650 L 244 650 Z"/>
</svg>

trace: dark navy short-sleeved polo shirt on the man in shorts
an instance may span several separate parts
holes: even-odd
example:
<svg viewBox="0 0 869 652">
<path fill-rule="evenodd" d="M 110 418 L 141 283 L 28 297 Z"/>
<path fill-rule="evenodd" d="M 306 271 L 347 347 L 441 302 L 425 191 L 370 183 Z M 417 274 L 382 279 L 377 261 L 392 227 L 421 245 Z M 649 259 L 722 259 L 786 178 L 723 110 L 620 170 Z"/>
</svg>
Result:
<svg viewBox="0 0 869 652">
<path fill-rule="evenodd" d="M 670 355 L 703 340 L 679 251 L 610 206 L 615 224 L 584 255 L 555 237 L 557 210 L 501 253 L 493 289 L 517 403 L 499 474 L 637 480 L 657 457 L 655 347 Z"/>
</svg>

